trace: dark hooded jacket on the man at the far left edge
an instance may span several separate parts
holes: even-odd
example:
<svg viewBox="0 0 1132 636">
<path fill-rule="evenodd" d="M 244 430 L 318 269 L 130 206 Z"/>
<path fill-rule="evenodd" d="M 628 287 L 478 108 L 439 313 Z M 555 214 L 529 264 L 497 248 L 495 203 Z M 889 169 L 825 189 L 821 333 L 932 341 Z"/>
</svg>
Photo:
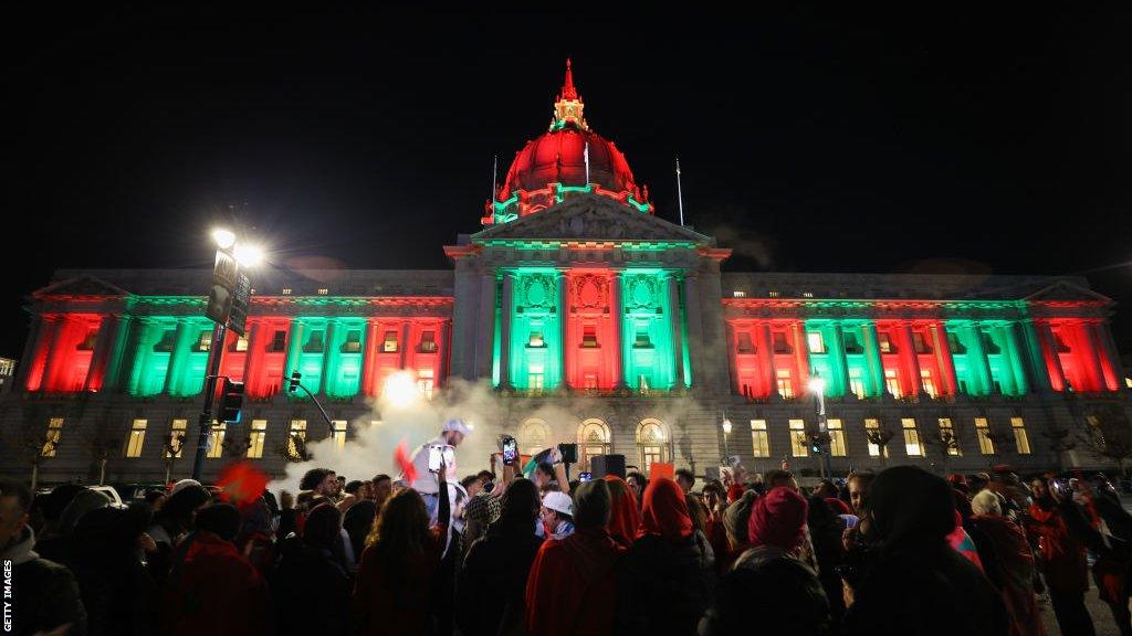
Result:
<svg viewBox="0 0 1132 636">
<path fill-rule="evenodd" d="M 24 526 L 19 539 L 0 553 L 0 559 L 12 562 L 12 596 L 5 599 L 19 608 L 12 613 L 12 634 L 31 635 L 70 624 L 68 636 L 84 636 L 86 610 L 79 600 L 78 583 L 70 570 L 40 558 L 33 548 L 35 533 Z"/>
</svg>

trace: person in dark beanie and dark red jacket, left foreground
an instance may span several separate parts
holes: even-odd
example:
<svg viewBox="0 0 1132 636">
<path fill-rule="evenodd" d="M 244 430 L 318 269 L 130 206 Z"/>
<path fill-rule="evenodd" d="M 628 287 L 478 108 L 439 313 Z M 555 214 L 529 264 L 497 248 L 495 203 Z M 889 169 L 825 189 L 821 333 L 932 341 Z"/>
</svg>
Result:
<svg viewBox="0 0 1132 636">
<path fill-rule="evenodd" d="M 172 636 L 275 634 L 267 585 L 237 549 L 240 512 L 213 504 L 173 553 L 161 603 L 161 629 Z"/>
</svg>

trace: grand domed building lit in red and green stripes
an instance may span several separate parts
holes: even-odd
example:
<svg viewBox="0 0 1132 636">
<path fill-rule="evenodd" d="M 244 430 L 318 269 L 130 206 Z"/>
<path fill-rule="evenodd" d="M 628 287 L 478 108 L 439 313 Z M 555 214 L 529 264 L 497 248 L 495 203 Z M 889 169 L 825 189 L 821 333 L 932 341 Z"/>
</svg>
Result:
<svg viewBox="0 0 1132 636">
<path fill-rule="evenodd" d="M 454 378 L 490 384 L 492 424 L 524 453 L 576 441 L 583 466 L 619 453 L 700 473 L 727 453 L 816 473 L 815 376 L 839 473 L 1048 467 L 1058 431 L 1127 411 L 1113 302 L 1083 278 L 722 273 L 730 250 L 653 213 L 567 69 L 549 130 L 516 154 L 483 229 L 444 248 L 453 269 L 256 274 L 247 335 L 230 334 L 221 369 L 246 383 L 243 421 L 214 429 L 206 470 L 248 456 L 280 473 L 289 439 L 308 432 L 349 444 L 397 371 L 426 396 Z M 114 481 L 160 481 L 168 455 L 192 456 L 209 280 L 60 270 L 33 294 L 2 418 L 15 447 L 60 440 L 43 479 L 87 475 L 105 448 Z M 285 390 L 293 370 L 333 428 Z M 565 415 L 532 416 L 546 406 Z M 0 471 L 23 473 L 24 455 Z"/>
</svg>

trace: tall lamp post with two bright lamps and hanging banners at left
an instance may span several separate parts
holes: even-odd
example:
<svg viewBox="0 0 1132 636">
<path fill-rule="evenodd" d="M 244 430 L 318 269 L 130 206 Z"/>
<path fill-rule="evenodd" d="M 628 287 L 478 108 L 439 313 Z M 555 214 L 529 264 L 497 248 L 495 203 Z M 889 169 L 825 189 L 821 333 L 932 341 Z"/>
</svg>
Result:
<svg viewBox="0 0 1132 636">
<path fill-rule="evenodd" d="M 200 410 L 200 432 L 197 437 L 197 454 L 192 461 L 192 479 L 199 481 L 205 466 L 205 454 L 208 446 L 208 432 L 213 422 L 213 401 L 216 397 L 216 380 L 220 375 L 220 361 L 224 355 L 224 336 L 228 334 L 229 312 L 235 294 L 240 266 L 250 267 L 257 264 L 263 253 L 252 246 L 237 246 L 235 234 L 229 230 L 213 230 L 213 241 L 216 243 L 216 265 L 213 269 L 213 287 L 208 294 L 207 315 L 216 323 L 213 328 L 212 344 L 208 346 L 208 373 L 205 376 L 205 404 Z M 238 327 L 242 330 L 242 326 Z"/>
</svg>

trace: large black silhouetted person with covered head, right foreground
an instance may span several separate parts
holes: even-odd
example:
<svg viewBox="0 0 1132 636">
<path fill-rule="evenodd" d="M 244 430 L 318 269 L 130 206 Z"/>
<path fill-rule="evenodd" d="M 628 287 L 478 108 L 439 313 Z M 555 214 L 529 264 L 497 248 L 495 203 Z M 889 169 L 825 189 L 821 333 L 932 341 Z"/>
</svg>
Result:
<svg viewBox="0 0 1132 636">
<path fill-rule="evenodd" d="M 949 543 L 955 531 L 951 484 L 918 466 L 894 466 L 868 492 L 873 562 L 852 587 L 848 636 L 1004 636 L 1002 598 L 978 567 Z"/>
</svg>

